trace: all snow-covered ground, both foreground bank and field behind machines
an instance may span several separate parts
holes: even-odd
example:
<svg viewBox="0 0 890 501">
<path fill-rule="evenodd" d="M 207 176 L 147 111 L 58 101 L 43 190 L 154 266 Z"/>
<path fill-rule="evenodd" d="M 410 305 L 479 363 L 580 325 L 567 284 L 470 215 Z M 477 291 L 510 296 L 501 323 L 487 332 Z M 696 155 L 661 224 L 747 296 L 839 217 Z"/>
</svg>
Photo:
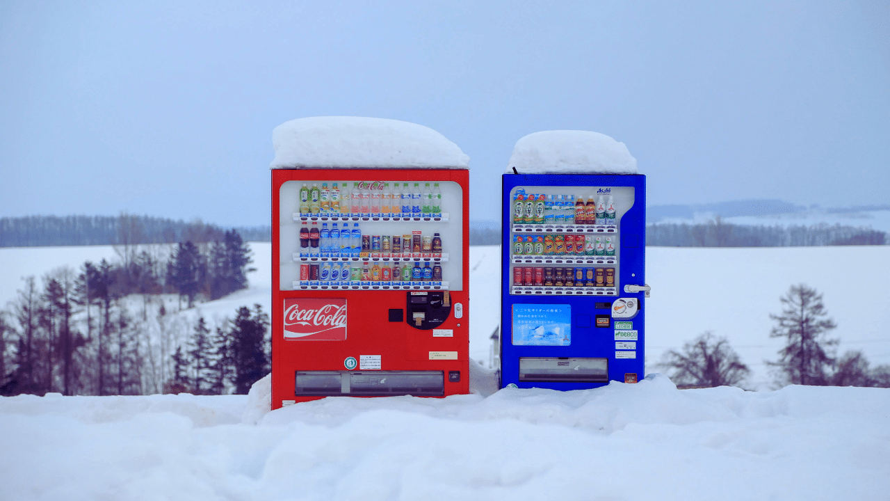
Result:
<svg viewBox="0 0 890 501">
<path fill-rule="evenodd" d="M 185 315 L 269 310 L 270 245 L 251 246 L 250 288 Z M 648 364 L 712 330 L 761 391 L 676 390 L 650 375 L 491 395 L 493 374 L 473 366 L 473 395 L 326 398 L 268 414 L 244 396 L 0 398 L 0 499 L 886 499 L 890 390 L 765 390 L 761 363 L 780 346 L 768 315 L 798 282 L 825 293 L 841 349 L 890 362 L 890 247 L 647 251 Z M 0 249 L 0 300 L 22 275 L 113 256 Z M 497 246 L 471 248 L 471 355 L 485 363 L 499 259 Z"/>
</svg>

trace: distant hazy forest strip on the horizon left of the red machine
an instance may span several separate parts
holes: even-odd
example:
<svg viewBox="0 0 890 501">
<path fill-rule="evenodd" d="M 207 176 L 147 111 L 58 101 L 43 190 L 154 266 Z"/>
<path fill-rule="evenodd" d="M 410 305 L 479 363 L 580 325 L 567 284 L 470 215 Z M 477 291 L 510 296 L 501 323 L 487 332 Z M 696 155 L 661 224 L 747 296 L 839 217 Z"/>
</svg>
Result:
<svg viewBox="0 0 890 501">
<path fill-rule="evenodd" d="M 270 226 L 230 228 L 247 242 L 269 242 Z M 109 245 L 121 238 L 139 243 L 214 242 L 226 229 L 195 219 L 190 222 L 123 213 L 113 216 L 24 216 L 0 218 L 0 247 Z"/>
</svg>

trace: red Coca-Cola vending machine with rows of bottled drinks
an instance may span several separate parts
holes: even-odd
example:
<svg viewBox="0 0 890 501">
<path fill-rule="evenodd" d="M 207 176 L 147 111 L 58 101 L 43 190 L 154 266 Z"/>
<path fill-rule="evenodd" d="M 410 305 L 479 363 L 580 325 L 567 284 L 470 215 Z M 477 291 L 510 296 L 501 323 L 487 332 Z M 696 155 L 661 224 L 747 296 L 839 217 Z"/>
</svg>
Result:
<svg viewBox="0 0 890 501">
<path fill-rule="evenodd" d="M 469 392 L 469 171 L 393 166 L 398 158 L 385 168 L 273 163 L 273 409 Z"/>
</svg>

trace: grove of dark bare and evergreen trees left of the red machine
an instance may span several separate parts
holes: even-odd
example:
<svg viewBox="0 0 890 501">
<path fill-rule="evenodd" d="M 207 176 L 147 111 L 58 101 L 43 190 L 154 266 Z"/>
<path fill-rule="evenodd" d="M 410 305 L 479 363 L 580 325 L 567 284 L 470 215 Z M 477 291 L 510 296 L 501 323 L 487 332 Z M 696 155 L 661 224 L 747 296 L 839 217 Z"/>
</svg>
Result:
<svg viewBox="0 0 890 501">
<path fill-rule="evenodd" d="M 168 312 L 171 294 L 182 309 L 183 297 L 191 307 L 247 287 L 252 259 L 236 231 L 115 250 L 115 262 L 61 267 L 39 284 L 25 278 L 0 309 L 0 394 L 247 392 L 268 372 L 269 322 L 258 305 L 239 308 L 212 336 L 203 317 L 190 325 Z"/>
</svg>

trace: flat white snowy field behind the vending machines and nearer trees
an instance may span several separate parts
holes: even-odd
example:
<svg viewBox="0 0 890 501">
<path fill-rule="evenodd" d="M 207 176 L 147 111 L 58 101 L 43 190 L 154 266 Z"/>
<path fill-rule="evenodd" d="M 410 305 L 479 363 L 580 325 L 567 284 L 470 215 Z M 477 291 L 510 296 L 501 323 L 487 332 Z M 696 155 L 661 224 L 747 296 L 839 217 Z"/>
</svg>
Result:
<svg viewBox="0 0 890 501">
<path fill-rule="evenodd" d="M 251 242 L 250 286 L 222 300 L 199 303 L 182 315 L 208 323 L 234 316 L 236 308 L 259 303 L 271 310 L 271 245 Z M 807 283 L 824 294 L 837 322 L 832 333 L 839 351 L 862 349 L 872 365 L 890 364 L 890 246 L 673 248 L 647 250 L 646 366 L 651 371 L 667 349 L 678 349 L 700 333 L 725 336 L 753 374 L 746 388 L 770 388 L 765 360 L 774 360 L 781 340 L 769 337 L 779 298 L 792 283 Z M 12 300 L 20 276 L 43 275 L 85 259 L 113 258 L 110 246 L 0 249 L 0 304 Z M 500 317 L 500 248 L 470 248 L 470 357 L 490 363 L 491 333 Z"/>
</svg>

